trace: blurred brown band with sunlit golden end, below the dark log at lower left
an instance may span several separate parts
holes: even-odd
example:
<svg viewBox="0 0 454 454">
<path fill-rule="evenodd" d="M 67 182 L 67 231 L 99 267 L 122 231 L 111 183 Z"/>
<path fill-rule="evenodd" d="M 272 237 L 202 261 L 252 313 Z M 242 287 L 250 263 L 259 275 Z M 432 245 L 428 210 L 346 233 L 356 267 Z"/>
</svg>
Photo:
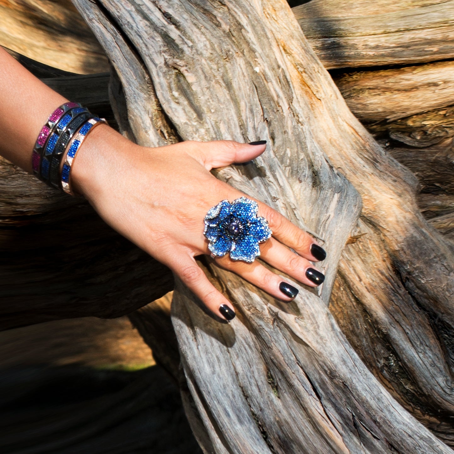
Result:
<svg viewBox="0 0 454 454">
<path fill-rule="evenodd" d="M 43 365 L 139 370 L 154 364 L 127 317 L 54 320 L 0 332 L 0 375 Z"/>
</svg>

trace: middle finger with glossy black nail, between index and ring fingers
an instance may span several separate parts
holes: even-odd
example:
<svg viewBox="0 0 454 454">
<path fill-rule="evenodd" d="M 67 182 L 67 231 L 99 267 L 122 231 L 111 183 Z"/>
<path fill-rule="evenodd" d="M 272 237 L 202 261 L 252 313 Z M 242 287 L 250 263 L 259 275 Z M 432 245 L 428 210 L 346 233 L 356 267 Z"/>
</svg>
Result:
<svg viewBox="0 0 454 454">
<path fill-rule="evenodd" d="M 273 268 L 283 271 L 307 286 L 319 286 L 325 280 L 323 273 L 314 268 L 307 259 L 270 238 L 260 247 L 260 257 Z"/>
</svg>

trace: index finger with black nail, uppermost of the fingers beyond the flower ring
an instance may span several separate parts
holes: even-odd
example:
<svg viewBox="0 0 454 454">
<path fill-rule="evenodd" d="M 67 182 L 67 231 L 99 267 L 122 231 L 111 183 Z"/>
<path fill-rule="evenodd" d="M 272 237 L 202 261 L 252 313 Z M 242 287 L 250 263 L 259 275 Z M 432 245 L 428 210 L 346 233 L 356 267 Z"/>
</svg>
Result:
<svg viewBox="0 0 454 454">
<path fill-rule="evenodd" d="M 281 213 L 259 202 L 259 215 L 263 216 L 273 232 L 273 237 L 281 243 L 291 247 L 300 256 L 313 262 L 319 262 L 326 257 L 325 250 L 314 240 L 309 233 L 292 224 Z"/>
</svg>

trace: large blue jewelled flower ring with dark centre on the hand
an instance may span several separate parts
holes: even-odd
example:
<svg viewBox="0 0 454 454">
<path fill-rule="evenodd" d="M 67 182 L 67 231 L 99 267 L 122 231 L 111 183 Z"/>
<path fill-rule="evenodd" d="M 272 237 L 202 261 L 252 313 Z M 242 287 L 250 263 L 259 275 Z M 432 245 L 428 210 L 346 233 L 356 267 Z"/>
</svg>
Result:
<svg viewBox="0 0 454 454">
<path fill-rule="evenodd" d="M 260 255 L 259 243 L 271 237 L 271 230 L 264 217 L 258 216 L 258 205 L 247 197 L 229 203 L 222 200 L 205 216 L 203 234 L 214 256 L 230 252 L 232 260 L 252 263 Z"/>
</svg>

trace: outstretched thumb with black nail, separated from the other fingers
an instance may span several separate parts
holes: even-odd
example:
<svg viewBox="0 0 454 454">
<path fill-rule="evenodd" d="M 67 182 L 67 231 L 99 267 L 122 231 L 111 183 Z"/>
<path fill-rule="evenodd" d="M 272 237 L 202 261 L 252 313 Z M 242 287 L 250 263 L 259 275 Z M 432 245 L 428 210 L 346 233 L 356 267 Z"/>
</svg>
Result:
<svg viewBox="0 0 454 454">
<path fill-rule="evenodd" d="M 253 144 L 255 143 L 255 145 Z M 191 155 L 207 170 L 225 167 L 232 163 L 246 163 L 260 156 L 266 148 L 266 140 L 259 142 L 239 143 L 233 140 L 214 142 L 193 142 Z"/>
</svg>

